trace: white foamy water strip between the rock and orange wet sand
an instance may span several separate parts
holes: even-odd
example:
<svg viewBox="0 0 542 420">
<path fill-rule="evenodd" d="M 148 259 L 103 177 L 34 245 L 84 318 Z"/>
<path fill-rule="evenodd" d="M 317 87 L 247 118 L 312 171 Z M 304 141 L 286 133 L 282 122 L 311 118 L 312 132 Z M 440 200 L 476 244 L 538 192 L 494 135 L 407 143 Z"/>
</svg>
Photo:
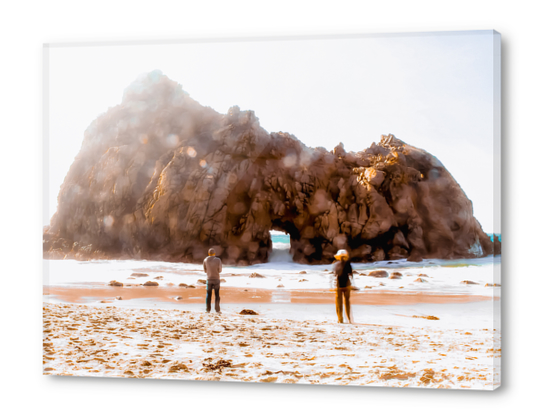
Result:
<svg viewBox="0 0 542 420">
<path fill-rule="evenodd" d="M 488 256 L 469 260 L 424 260 L 419 263 L 406 260 L 352 264 L 357 274 L 354 285 L 361 290 L 375 292 L 419 292 L 499 296 L 501 258 Z M 333 284 L 330 264 L 303 265 L 291 260 L 287 249 L 274 249 L 270 261 L 248 267 L 224 265 L 224 287 L 262 288 L 281 290 L 329 289 Z M 370 276 L 375 270 L 388 275 L 400 273 L 400 278 Z M 138 278 L 133 273 L 147 273 Z M 261 278 L 250 277 L 258 273 Z M 62 287 L 104 287 L 111 280 L 124 284 L 141 284 L 161 276 L 160 287 L 176 287 L 179 283 L 194 284 L 205 279 L 201 264 L 171 263 L 140 260 L 46 260 L 44 284 Z"/>
</svg>

